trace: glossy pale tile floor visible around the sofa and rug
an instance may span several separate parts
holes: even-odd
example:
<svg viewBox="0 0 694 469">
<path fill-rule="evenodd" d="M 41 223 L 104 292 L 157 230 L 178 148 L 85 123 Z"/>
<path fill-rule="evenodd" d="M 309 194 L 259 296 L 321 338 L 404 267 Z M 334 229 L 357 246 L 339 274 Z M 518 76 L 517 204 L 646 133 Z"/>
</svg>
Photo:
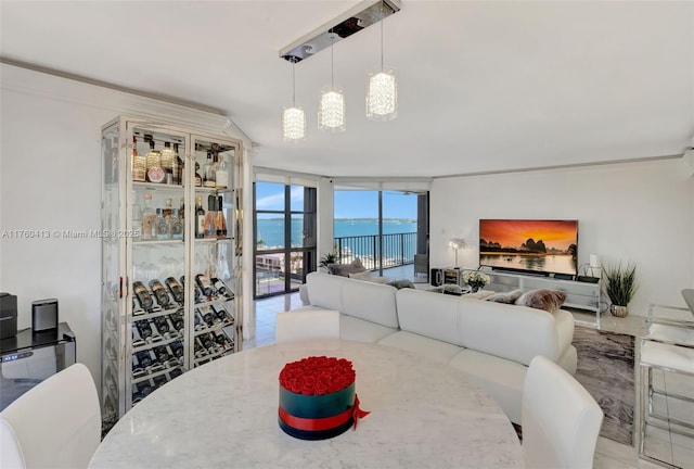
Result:
<svg viewBox="0 0 694 469">
<path fill-rule="evenodd" d="M 391 269 L 386 272 L 386 276 L 391 279 L 410 278 L 415 283 L 426 283 L 425 277 L 415 278 L 408 275 L 411 269 L 412 266 L 404 266 L 395 270 Z M 257 300 L 255 302 L 256 335 L 252 341 L 244 341 L 243 347 L 248 348 L 274 343 L 274 322 L 277 314 L 298 306 L 301 306 L 298 293 Z M 582 315 L 579 313 L 576 314 L 576 316 L 577 320 L 592 321 L 595 319 L 594 315 Z M 641 331 L 642 324 L 643 318 L 639 316 L 628 316 L 626 318 L 616 318 L 605 314 L 601 316 L 601 329 L 612 332 L 628 333 L 638 337 Z M 639 341 L 637 341 L 637 343 Z M 638 363 L 638 355 L 635 358 Z M 639 372 L 635 373 L 635 388 L 638 390 Z M 638 421 L 638 406 L 637 409 L 634 409 L 634 421 Z M 637 429 L 634 429 L 634 431 L 637 431 Z M 658 429 L 654 429 L 650 434 L 654 438 L 652 447 L 660 459 L 673 460 L 678 465 L 676 467 L 680 467 L 682 469 L 694 469 L 693 439 L 683 438 L 679 434 L 669 433 Z M 638 435 L 634 438 L 634 445 L 638 444 L 637 440 Z M 599 438 L 597 440 L 594 469 L 656 469 L 659 467 L 661 466 L 640 459 L 635 446 L 619 444 L 604 438 Z"/>
</svg>

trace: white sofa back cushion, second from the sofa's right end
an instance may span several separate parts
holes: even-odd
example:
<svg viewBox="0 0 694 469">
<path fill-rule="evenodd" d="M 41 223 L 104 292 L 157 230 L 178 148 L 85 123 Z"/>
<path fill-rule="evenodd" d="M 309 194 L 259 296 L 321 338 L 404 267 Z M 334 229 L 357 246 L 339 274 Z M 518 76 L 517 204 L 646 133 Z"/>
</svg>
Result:
<svg viewBox="0 0 694 469">
<path fill-rule="evenodd" d="M 421 290 L 402 289 L 396 294 L 400 329 L 454 345 L 458 332 L 458 302 L 460 296 L 432 294 Z"/>
</svg>

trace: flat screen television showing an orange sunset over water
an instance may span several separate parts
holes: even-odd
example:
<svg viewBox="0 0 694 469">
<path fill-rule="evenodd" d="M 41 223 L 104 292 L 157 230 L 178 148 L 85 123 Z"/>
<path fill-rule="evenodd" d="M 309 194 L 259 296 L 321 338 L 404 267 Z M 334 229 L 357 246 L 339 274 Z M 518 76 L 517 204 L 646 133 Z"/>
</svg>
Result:
<svg viewBox="0 0 694 469">
<path fill-rule="evenodd" d="M 578 220 L 479 220 L 480 267 L 574 277 L 577 263 Z"/>
</svg>

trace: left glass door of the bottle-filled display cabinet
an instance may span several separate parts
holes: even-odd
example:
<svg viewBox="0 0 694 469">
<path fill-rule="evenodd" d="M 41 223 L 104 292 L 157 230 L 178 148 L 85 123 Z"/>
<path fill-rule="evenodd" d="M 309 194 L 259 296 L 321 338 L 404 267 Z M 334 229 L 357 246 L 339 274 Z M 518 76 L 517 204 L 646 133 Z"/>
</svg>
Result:
<svg viewBox="0 0 694 469">
<path fill-rule="evenodd" d="M 127 408 L 188 369 L 184 284 L 184 134 L 131 125 L 128 132 L 130 239 L 127 269 L 132 293 Z"/>
</svg>

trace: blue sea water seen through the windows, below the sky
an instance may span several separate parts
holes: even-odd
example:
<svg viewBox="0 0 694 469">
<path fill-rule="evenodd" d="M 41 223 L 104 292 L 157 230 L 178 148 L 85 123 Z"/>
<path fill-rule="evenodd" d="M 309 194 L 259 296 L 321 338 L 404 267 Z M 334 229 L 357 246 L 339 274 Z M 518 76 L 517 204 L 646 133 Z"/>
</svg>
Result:
<svg viewBox="0 0 694 469">
<path fill-rule="evenodd" d="M 303 220 L 292 220 L 292 244 L 301 244 Z M 336 219 L 335 238 L 378 234 L 375 218 Z M 384 219 L 384 234 L 416 232 L 416 221 L 412 219 Z M 258 239 L 268 248 L 284 245 L 284 221 L 282 219 L 258 219 Z"/>
</svg>

